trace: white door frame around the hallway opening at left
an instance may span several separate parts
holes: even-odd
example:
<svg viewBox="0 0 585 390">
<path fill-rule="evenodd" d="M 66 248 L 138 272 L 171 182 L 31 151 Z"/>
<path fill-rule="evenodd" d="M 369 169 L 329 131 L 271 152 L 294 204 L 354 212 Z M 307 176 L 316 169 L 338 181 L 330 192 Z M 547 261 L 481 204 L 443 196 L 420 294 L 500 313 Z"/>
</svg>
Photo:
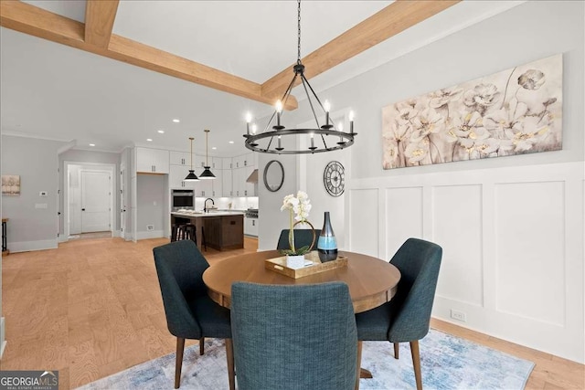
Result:
<svg viewBox="0 0 585 390">
<path fill-rule="evenodd" d="M 116 209 L 116 201 L 114 199 L 116 194 L 117 188 L 117 180 L 118 176 L 114 176 L 116 173 L 116 164 L 115 163 L 85 163 L 85 162 L 75 162 L 75 161 L 64 161 L 63 162 L 63 240 L 61 242 L 69 241 L 69 171 L 71 165 L 80 166 L 80 169 L 86 170 L 100 170 L 100 171 L 109 171 L 111 179 L 111 188 L 110 188 L 110 218 L 111 218 L 111 231 L 112 237 L 117 235 L 115 227 L 116 227 L 116 216 L 114 214 L 114 210 Z"/>
</svg>

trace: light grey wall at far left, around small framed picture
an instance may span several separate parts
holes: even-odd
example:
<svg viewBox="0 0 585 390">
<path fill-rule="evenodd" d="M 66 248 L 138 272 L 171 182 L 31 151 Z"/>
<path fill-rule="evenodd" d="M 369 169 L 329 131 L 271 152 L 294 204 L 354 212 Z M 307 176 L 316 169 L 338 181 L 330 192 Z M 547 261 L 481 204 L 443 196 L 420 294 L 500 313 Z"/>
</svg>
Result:
<svg viewBox="0 0 585 390">
<path fill-rule="evenodd" d="M 2 136 L 2 174 L 20 175 L 20 195 L 2 199 L 3 216 L 10 218 L 7 242 L 11 252 L 57 248 L 57 152 L 63 143 Z M 48 196 L 40 196 L 41 191 Z"/>
</svg>

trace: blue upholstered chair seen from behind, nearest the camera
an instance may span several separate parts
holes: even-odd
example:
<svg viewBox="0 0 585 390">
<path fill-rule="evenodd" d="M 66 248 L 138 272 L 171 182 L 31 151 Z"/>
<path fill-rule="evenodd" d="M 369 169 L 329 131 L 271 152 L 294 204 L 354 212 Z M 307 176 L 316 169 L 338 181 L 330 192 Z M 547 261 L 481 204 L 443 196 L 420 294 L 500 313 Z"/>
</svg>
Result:
<svg viewBox="0 0 585 390">
<path fill-rule="evenodd" d="M 345 283 L 236 282 L 231 323 L 239 390 L 356 385 L 356 318 Z"/>
</svg>

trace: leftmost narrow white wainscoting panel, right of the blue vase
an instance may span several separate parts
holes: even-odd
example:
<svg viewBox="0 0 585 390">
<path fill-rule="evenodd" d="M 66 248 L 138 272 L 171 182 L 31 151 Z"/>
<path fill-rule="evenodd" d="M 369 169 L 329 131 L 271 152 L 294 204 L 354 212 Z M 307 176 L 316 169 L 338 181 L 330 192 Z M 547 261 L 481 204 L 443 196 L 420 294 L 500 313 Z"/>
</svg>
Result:
<svg viewBox="0 0 585 390">
<path fill-rule="evenodd" d="M 380 219 L 378 188 L 351 191 L 349 209 L 349 250 L 377 257 Z"/>
</svg>

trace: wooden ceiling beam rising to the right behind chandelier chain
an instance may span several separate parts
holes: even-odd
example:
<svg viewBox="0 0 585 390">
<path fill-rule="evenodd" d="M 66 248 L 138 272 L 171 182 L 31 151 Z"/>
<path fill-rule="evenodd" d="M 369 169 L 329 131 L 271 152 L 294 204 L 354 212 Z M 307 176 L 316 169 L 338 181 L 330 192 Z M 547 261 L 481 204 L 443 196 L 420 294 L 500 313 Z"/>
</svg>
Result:
<svg viewBox="0 0 585 390">
<path fill-rule="evenodd" d="M 396 1 L 303 58 L 304 76 L 314 78 L 460 1 Z M 291 82 L 293 65 L 265 81 L 261 93 L 282 93 Z"/>
</svg>

